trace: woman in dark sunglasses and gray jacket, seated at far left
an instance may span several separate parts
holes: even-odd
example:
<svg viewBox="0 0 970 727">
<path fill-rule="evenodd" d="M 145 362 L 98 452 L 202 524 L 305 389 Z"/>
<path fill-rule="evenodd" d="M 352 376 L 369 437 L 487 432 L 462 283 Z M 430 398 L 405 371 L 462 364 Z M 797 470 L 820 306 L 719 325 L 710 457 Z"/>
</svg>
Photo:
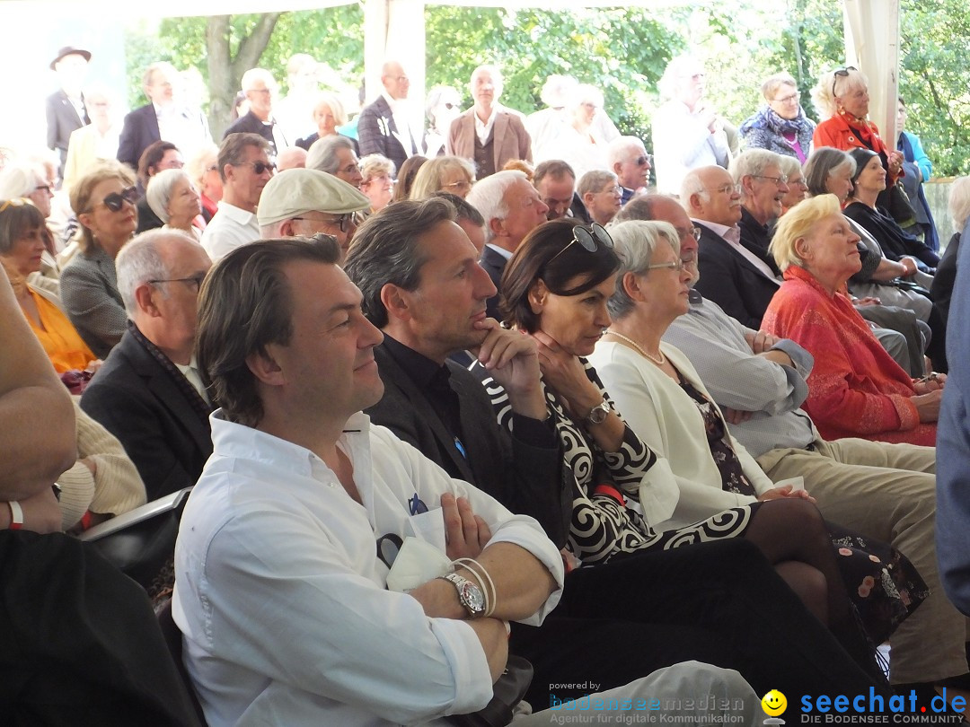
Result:
<svg viewBox="0 0 970 727">
<path fill-rule="evenodd" d="M 98 358 L 121 339 L 128 319 L 117 290 L 114 258 L 138 226 L 138 191 L 117 162 L 93 167 L 71 189 L 81 223 L 79 252 L 61 271 L 61 300 L 71 323 Z"/>
</svg>

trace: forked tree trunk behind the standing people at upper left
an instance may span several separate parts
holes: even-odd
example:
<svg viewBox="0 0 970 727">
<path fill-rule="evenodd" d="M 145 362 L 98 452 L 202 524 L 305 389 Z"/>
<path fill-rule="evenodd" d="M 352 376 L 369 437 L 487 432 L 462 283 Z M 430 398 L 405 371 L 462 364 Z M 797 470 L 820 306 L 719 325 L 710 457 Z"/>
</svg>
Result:
<svg viewBox="0 0 970 727">
<path fill-rule="evenodd" d="M 240 42 L 233 58 L 229 40 L 232 33 L 232 16 L 210 16 L 206 24 L 207 64 L 209 66 L 209 126 L 212 138 L 218 142 L 231 123 L 236 94 L 240 90 L 242 74 L 254 68 L 279 19 L 279 13 L 260 16 L 252 33 Z"/>
</svg>

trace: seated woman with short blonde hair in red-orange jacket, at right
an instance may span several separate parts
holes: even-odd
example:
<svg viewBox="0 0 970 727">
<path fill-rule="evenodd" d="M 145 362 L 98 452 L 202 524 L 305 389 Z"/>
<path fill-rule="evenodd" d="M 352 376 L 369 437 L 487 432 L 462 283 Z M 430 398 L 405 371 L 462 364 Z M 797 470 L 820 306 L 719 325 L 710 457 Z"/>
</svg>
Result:
<svg viewBox="0 0 970 727">
<path fill-rule="evenodd" d="M 912 379 L 840 292 L 861 267 L 857 241 L 835 195 L 806 200 L 782 217 L 769 251 L 785 282 L 761 327 L 815 357 L 803 408 L 824 439 L 932 447 L 946 375 Z"/>
</svg>

